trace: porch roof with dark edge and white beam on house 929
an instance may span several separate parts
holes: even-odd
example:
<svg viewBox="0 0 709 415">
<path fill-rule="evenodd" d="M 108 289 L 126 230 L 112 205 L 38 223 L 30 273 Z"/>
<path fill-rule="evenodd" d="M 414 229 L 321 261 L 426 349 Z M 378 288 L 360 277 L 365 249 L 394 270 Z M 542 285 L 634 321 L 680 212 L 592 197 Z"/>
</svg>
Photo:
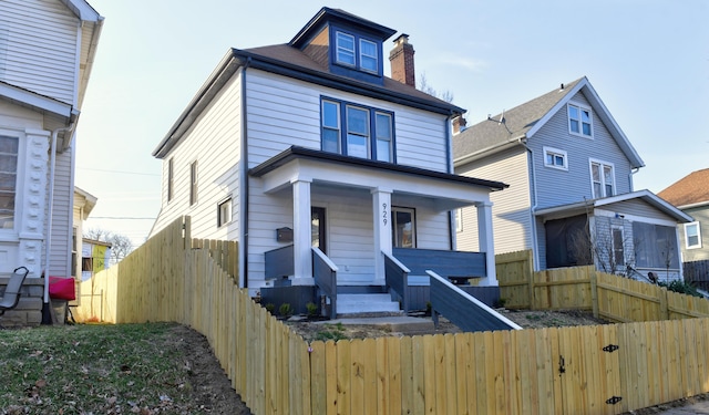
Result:
<svg viewBox="0 0 709 415">
<path fill-rule="evenodd" d="M 295 181 L 314 185 L 389 191 L 392 197 L 425 197 L 440 210 L 490 201 L 490 193 L 507 185 L 500 181 L 392 165 L 301 147 L 290 147 L 249 170 L 264 180 L 264 191 L 276 193 Z"/>
</svg>

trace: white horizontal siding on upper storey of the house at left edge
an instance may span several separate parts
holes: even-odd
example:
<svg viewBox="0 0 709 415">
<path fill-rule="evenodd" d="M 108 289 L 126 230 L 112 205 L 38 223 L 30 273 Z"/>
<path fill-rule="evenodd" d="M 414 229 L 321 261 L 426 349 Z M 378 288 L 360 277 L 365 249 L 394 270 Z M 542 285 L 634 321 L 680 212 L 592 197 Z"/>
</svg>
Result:
<svg viewBox="0 0 709 415">
<path fill-rule="evenodd" d="M 79 30 L 78 18 L 59 0 L 2 1 L 0 79 L 78 105 Z"/>
</svg>

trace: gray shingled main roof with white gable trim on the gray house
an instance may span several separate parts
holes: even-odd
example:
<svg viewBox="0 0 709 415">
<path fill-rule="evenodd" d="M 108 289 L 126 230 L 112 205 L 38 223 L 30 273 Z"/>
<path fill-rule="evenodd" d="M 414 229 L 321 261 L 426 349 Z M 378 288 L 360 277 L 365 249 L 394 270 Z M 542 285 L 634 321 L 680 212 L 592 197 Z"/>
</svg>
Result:
<svg viewBox="0 0 709 415">
<path fill-rule="evenodd" d="M 484 155 L 497 153 L 534 135 L 577 93 L 583 93 L 595 114 L 616 141 L 633 168 L 645 166 L 629 139 L 623 133 L 608 108 L 590 85 L 587 77 L 580 77 L 559 89 L 547 92 L 532 101 L 477 123 L 453 137 L 455 164 L 467 163 Z"/>
</svg>

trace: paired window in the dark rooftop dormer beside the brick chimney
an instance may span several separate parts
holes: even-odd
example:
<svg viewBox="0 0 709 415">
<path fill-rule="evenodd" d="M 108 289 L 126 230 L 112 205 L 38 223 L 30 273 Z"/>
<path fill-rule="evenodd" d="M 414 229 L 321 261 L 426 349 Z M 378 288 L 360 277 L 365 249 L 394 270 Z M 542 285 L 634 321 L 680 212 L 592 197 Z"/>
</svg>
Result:
<svg viewBox="0 0 709 415">
<path fill-rule="evenodd" d="M 335 62 L 357 71 L 378 75 L 379 44 L 359 34 L 336 32 Z"/>
</svg>

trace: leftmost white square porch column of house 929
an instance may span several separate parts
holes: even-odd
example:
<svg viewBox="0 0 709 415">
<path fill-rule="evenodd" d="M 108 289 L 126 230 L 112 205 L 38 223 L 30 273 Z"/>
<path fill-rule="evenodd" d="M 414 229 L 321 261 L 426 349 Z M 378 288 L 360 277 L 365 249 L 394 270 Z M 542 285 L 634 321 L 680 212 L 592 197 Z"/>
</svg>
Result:
<svg viewBox="0 0 709 415">
<path fill-rule="evenodd" d="M 310 212 L 310 181 L 292 181 L 292 248 L 294 271 L 291 284 L 314 286 L 312 236 Z"/>
</svg>

